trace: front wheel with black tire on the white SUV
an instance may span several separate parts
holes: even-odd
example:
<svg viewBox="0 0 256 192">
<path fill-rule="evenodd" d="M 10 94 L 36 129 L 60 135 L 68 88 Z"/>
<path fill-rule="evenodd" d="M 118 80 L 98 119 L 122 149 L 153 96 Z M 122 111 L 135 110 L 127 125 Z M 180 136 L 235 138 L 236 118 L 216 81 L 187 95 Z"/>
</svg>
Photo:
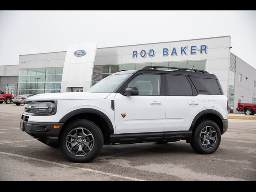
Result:
<svg viewBox="0 0 256 192">
<path fill-rule="evenodd" d="M 82 131 L 87 136 L 83 136 Z M 90 120 L 78 119 L 68 123 L 60 133 L 59 148 L 68 160 L 87 163 L 100 154 L 103 143 L 104 137 L 98 125 Z"/>
</svg>

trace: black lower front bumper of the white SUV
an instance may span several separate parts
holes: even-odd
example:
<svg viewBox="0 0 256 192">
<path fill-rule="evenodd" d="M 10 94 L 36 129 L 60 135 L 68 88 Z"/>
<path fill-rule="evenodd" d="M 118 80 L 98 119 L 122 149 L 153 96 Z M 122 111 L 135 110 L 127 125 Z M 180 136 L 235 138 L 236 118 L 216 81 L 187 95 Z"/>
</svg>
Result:
<svg viewBox="0 0 256 192">
<path fill-rule="evenodd" d="M 30 136 L 48 146 L 58 147 L 58 137 L 64 123 L 30 122 L 26 116 L 20 121 L 24 122 L 24 130 Z M 54 125 L 60 125 L 60 128 L 53 128 Z"/>
</svg>

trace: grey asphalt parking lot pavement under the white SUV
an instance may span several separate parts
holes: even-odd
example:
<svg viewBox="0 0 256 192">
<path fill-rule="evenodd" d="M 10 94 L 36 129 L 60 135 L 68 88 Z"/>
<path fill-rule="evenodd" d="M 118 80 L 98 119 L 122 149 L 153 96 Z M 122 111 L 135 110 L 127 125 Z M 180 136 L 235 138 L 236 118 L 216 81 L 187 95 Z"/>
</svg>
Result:
<svg viewBox="0 0 256 192">
<path fill-rule="evenodd" d="M 230 120 L 219 149 L 197 154 L 186 141 L 104 146 L 82 164 L 19 130 L 24 106 L 0 104 L 0 180 L 256 180 L 256 122 Z"/>
</svg>

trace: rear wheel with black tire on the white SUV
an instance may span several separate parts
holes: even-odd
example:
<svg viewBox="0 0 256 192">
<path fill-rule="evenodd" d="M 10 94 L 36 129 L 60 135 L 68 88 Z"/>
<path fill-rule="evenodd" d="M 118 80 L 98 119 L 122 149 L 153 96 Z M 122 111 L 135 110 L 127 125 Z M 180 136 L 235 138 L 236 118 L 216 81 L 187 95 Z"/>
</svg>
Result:
<svg viewBox="0 0 256 192">
<path fill-rule="evenodd" d="M 204 120 L 193 131 L 190 145 L 200 154 L 212 154 L 220 146 L 220 141 L 221 133 L 218 125 L 212 120 Z"/>
</svg>

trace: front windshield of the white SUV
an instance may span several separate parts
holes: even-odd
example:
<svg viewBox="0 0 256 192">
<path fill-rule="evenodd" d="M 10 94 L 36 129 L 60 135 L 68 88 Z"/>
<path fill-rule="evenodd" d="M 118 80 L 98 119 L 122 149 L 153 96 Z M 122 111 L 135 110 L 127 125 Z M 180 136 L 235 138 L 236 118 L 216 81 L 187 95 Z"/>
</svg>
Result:
<svg viewBox="0 0 256 192">
<path fill-rule="evenodd" d="M 132 74 L 110 75 L 92 86 L 88 92 L 91 93 L 112 93 L 122 82 Z"/>
</svg>

